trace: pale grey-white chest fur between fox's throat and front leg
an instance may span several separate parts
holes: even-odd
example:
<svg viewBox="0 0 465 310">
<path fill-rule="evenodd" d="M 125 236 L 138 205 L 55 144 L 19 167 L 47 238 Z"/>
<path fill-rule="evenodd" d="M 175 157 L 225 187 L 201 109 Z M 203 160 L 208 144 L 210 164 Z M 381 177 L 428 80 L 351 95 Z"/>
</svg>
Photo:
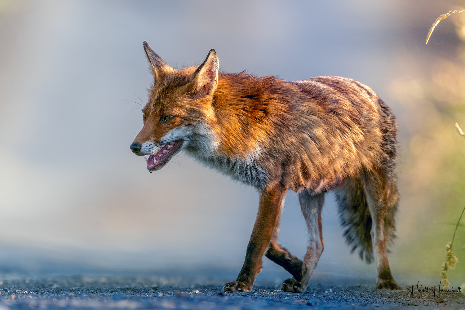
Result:
<svg viewBox="0 0 465 310">
<path fill-rule="evenodd" d="M 268 171 L 254 161 L 239 161 L 219 156 L 199 159 L 234 180 L 257 189 L 265 188 L 268 183 Z"/>
</svg>

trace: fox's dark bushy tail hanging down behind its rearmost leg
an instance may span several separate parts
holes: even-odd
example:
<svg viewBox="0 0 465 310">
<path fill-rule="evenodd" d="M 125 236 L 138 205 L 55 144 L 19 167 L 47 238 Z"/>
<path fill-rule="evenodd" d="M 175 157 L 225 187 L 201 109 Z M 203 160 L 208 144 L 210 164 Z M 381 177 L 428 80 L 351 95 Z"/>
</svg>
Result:
<svg viewBox="0 0 465 310">
<path fill-rule="evenodd" d="M 384 231 L 386 245 L 392 243 L 395 238 L 394 215 L 397 211 L 397 188 L 392 188 L 392 201 L 388 206 L 384 218 Z M 338 191 L 336 191 L 338 202 L 339 219 L 345 228 L 345 242 L 352 246 L 352 252 L 359 249 L 360 259 L 370 264 L 373 261 L 372 217 L 368 210 L 366 196 L 360 178 L 348 178 Z"/>
</svg>

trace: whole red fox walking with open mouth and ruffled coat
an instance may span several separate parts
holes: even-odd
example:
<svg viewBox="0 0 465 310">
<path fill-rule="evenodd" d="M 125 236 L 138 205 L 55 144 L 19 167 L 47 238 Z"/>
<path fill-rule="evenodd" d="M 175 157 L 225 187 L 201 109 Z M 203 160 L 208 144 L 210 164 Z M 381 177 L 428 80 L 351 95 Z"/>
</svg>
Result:
<svg viewBox="0 0 465 310">
<path fill-rule="evenodd" d="M 376 288 L 400 290 L 387 259 L 399 200 L 398 128 L 370 87 L 338 76 L 285 81 L 224 73 L 214 49 L 201 65 L 180 69 L 147 41 L 144 51 L 153 86 L 132 152 L 148 156 L 152 172 L 183 151 L 259 192 L 244 264 L 225 292 L 251 291 L 263 256 L 292 275 L 281 290 L 303 292 L 325 248 L 321 211 L 329 191 L 346 243 L 367 263 L 376 262 Z M 278 244 L 288 190 L 298 193 L 308 230 L 303 260 Z"/>
</svg>

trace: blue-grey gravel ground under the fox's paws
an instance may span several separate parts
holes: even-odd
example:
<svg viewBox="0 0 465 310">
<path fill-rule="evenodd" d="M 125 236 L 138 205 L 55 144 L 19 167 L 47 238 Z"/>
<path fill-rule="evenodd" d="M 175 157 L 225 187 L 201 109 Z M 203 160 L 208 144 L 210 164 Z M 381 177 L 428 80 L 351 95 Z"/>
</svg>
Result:
<svg viewBox="0 0 465 310">
<path fill-rule="evenodd" d="M 182 286 L 184 285 L 184 286 Z M 374 285 L 310 284 L 305 293 L 285 293 L 273 286 L 255 286 L 250 293 L 223 293 L 213 279 L 189 282 L 164 277 L 61 277 L 0 281 L 0 310 L 7 309 L 463 309 L 464 295 L 408 290 L 374 290 Z"/>
</svg>

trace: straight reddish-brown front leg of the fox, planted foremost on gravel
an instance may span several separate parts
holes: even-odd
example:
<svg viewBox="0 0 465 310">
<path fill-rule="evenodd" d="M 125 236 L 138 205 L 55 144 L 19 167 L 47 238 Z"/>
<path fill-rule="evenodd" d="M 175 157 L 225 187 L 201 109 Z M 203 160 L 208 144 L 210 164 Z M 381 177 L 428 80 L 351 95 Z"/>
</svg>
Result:
<svg viewBox="0 0 465 310">
<path fill-rule="evenodd" d="M 260 195 L 259 211 L 247 245 L 246 259 L 236 281 L 226 283 L 225 292 L 250 292 L 257 273 L 262 268 L 265 254 L 276 221 L 279 219 L 281 203 L 287 189 L 282 185 L 267 187 Z"/>
</svg>

